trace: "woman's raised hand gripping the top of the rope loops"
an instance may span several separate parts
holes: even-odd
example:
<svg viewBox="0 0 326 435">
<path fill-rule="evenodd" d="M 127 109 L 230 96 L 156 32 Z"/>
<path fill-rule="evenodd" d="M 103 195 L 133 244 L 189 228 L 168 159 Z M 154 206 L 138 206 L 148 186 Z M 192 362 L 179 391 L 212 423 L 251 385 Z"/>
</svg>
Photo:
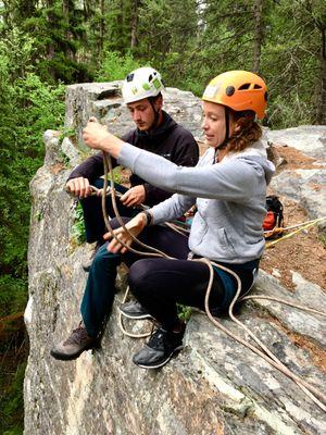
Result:
<svg viewBox="0 0 326 435">
<path fill-rule="evenodd" d="M 83 140 L 87 147 L 109 152 L 115 159 L 123 146 L 123 141 L 109 133 L 108 128 L 93 116 L 89 119 L 83 129 Z"/>
</svg>

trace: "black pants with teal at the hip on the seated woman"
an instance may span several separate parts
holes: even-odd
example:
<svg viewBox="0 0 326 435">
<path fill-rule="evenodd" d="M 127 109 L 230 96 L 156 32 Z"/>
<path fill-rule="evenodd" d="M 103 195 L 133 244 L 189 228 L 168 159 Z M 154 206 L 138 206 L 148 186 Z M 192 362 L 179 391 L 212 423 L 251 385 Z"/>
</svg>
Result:
<svg viewBox="0 0 326 435">
<path fill-rule="evenodd" d="M 160 226 L 147 231 L 151 232 L 151 236 L 146 237 L 147 243 L 175 257 L 176 260 L 138 260 L 129 270 L 130 290 L 164 328 L 172 330 L 179 323 L 177 303 L 204 310 L 210 271 L 204 263 L 187 260 L 188 237 Z M 253 284 L 259 260 L 236 265 L 222 264 L 236 272 L 241 281 L 241 294 L 247 293 Z M 213 314 L 221 314 L 228 309 L 237 288 L 234 276 L 218 269 L 214 271 L 209 300 Z"/>
</svg>

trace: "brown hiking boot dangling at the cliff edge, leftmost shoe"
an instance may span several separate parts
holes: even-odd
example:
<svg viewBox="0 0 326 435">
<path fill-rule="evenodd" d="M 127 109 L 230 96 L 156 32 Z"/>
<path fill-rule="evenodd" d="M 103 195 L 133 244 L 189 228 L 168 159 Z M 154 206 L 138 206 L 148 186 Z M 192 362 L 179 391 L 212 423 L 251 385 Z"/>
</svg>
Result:
<svg viewBox="0 0 326 435">
<path fill-rule="evenodd" d="M 89 337 L 80 323 L 67 339 L 62 340 L 57 346 L 54 345 L 50 353 L 57 360 L 68 361 L 78 358 L 84 350 L 97 347 L 99 347 L 99 339 Z"/>
</svg>

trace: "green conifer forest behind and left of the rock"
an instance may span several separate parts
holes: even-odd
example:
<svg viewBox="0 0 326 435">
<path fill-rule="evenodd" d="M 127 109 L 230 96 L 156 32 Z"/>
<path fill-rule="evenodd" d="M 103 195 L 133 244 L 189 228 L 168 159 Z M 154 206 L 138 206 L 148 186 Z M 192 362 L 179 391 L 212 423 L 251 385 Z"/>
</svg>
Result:
<svg viewBox="0 0 326 435">
<path fill-rule="evenodd" d="M 166 86 L 200 96 L 213 76 L 249 70 L 268 84 L 266 125 L 326 124 L 325 0 L 3 0 L 0 34 L 0 333 L 26 303 L 28 183 L 42 164 L 43 132 L 71 134 L 65 85 L 151 65 Z M 8 435 L 23 431 L 28 344 L 16 346 L 0 339 Z"/>
</svg>

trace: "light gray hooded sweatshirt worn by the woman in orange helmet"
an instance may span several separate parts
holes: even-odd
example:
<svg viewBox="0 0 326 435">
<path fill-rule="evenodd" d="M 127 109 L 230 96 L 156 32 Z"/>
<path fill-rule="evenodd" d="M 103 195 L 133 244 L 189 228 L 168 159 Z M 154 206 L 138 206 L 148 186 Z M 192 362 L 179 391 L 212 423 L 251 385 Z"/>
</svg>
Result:
<svg viewBox="0 0 326 435">
<path fill-rule="evenodd" d="M 262 223 L 266 186 L 275 167 L 262 141 L 214 162 L 213 148 L 197 166 L 177 166 L 166 159 L 124 144 L 118 162 L 148 183 L 176 192 L 150 211 L 155 224 L 183 215 L 197 206 L 189 248 L 217 262 L 246 263 L 264 250 Z"/>
</svg>

